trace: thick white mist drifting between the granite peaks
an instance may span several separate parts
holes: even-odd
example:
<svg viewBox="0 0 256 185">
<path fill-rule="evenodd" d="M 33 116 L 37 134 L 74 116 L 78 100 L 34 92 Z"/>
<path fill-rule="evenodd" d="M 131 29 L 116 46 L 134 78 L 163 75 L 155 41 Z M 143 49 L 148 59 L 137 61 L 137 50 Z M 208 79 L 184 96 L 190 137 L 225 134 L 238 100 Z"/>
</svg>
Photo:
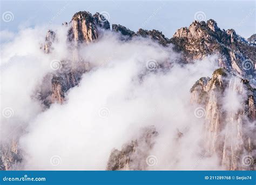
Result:
<svg viewBox="0 0 256 185">
<path fill-rule="evenodd" d="M 223 169 L 217 156 L 205 156 L 204 119 L 190 104 L 190 88 L 200 77 L 212 76 L 217 56 L 182 65 L 172 45 L 141 37 L 120 40 L 111 31 L 71 50 L 68 28 L 55 29 L 57 41 L 49 54 L 40 49 L 45 28 L 21 30 L 1 47 L 1 108 L 9 107 L 11 116 L 2 117 L 0 138 L 18 136 L 20 168 L 105 170 L 113 148 L 138 138 L 141 128 L 155 126 L 159 134 L 150 155 L 157 163 L 147 169 Z M 66 93 L 64 104 L 45 108 L 35 94 L 46 74 L 56 72 L 51 68 L 55 59 L 72 65 L 79 60 L 91 68 Z M 22 129 L 12 132 L 17 127 Z M 178 131 L 184 134 L 179 140 Z"/>
</svg>

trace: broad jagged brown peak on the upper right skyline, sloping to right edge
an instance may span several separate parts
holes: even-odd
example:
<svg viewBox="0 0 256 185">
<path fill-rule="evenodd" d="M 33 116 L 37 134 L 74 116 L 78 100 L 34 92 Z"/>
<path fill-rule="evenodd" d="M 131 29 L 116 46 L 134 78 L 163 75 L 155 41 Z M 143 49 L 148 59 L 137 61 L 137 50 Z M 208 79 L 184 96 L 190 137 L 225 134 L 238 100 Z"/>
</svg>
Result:
<svg viewBox="0 0 256 185">
<path fill-rule="evenodd" d="M 256 47 L 240 37 L 233 29 L 220 30 L 210 19 L 193 22 L 188 28 L 174 33 L 170 43 L 184 53 L 187 62 L 202 59 L 210 54 L 219 56 L 219 66 L 229 72 L 252 79 L 255 72 Z"/>
</svg>

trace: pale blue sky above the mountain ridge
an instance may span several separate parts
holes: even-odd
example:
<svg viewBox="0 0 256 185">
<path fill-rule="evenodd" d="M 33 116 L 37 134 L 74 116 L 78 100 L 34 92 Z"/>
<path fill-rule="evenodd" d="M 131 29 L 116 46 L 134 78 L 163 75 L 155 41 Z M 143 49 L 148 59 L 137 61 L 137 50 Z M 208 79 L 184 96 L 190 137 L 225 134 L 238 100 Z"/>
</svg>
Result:
<svg viewBox="0 0 256 185">
<path fill-rule="evenodd" d="M 111 24 L 122 24 L 137 31 L 139 28 L 162 31 L 166 37 L 189 26 L 198 11 L 205 19 L 217 21 L 221 29 L 233 28 L 248 38 L 255 33 L 256 1 L 1 1 L 1 16 L 6 11 L 14 20 L 4 22 L 1 30 L 17 31 L 24 26 L 69 22 L 77 11 L 108 12 Z M 51 25 L 49 25 L 50 27 Z"/>
</svg>

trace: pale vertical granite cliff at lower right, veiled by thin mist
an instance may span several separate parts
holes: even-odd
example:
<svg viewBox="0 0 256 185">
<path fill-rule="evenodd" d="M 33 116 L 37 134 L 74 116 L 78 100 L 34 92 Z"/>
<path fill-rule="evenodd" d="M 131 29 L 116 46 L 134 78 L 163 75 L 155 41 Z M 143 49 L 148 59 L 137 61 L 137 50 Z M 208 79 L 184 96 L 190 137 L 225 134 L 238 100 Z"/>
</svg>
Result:
<svg viewBox="0 0 256 185">
<path fill-rule="evenodd" d="M 226 100 L 227 96 L 242 101 Z M 255 150 L 255 97 L 247 80 L 232 77 L 226 70 L 214 71 L 212 78 L 201 78 L 191 88 L 191 102 L 205 111 L 205 148 L 218 155 L 227 170 L 255 169 L 244 164 L 244 157 L 253 159 Z"/>
</svg>

